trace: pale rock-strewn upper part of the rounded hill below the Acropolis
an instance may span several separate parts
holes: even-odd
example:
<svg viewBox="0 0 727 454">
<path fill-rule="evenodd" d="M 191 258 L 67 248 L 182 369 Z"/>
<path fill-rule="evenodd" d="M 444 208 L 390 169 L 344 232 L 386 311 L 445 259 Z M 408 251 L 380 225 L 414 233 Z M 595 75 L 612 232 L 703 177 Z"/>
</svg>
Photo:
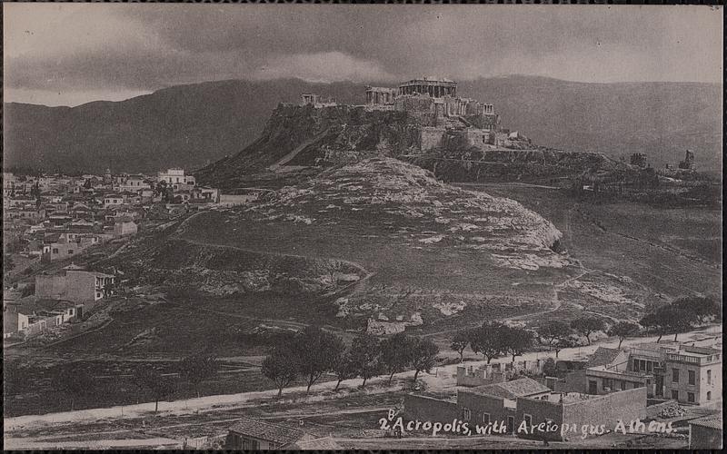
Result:
<svg viewBox="0 0 727 454">
<path fill-rule="evenodd" d="M 334 167 L 300 187 L 284 188 L 247 214 L 260 222 L 304 224 L 367 219 L 363 228 L 379 229 L 383 222 L 411 231 L 403 240 L 410 246 L 456 244 L 490 252 L 494 262 L 515 268 L 566 263 L 552 249 L 561 232 L 520 203 L 463 191 L 393 158 Z M 527 258 L 522 252 L 529 254 Z"/>
</svg>

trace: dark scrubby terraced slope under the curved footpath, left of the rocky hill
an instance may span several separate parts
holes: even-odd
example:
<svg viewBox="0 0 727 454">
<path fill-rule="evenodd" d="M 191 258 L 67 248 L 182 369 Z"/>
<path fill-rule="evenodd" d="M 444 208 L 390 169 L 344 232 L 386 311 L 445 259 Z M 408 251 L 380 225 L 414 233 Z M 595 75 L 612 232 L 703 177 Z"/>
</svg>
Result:
<svg viewBox="0 0 727 454">
<path fill-rule="evenodd" d="M 135 286 L 194 289 L 219 297 L 257 292 L 301 296 L 335 291 L 338 284 L 362 277 L 362 270 L 346 262 L 184 241 L 177 237 L 184 233 L 184 223 L 173 233 L 131 243 L 101 264 L 123 272 Z"/>
</svg>

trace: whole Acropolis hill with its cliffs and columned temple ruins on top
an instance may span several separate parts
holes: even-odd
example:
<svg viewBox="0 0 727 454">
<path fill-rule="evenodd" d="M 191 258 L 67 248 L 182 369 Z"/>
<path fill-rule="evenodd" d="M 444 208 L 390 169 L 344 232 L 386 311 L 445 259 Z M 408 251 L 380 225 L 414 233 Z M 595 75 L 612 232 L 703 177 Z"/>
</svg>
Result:
<svg viewBox="0 0 727 454">
<path fill-rule="evenodd" d="M 365 104 L 359 105 L 338 104 L 321 94 L 279 104 L 254 143 L 196 175 L 235 187 L 241 174 L 290 174 L 382 156 L 459 181 L 573 176 L 622 167 L 602 153 L 533 145 L 523 133 L 502 127 L 493 104 L 460 96 L 457 83 L 449 79 L 420 77 L 397 88 L 366 86 L 365 94 Z"/>
</svg>

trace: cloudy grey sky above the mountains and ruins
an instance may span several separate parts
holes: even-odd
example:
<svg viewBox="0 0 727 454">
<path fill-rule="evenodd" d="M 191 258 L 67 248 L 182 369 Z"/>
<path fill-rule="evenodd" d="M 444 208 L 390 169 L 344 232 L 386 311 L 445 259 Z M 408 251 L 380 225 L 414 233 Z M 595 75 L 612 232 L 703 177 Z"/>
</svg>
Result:
<svg viewBox="0 0 727 454">
<path fill-rule="evenodd" d="M 287 77 L 722 83 L 712 6 L 5 3 L 3 21 L 5 102 Z"/>
</svg>

